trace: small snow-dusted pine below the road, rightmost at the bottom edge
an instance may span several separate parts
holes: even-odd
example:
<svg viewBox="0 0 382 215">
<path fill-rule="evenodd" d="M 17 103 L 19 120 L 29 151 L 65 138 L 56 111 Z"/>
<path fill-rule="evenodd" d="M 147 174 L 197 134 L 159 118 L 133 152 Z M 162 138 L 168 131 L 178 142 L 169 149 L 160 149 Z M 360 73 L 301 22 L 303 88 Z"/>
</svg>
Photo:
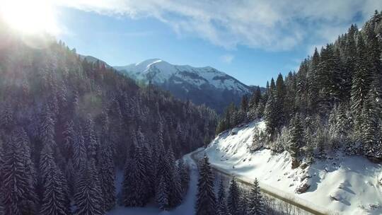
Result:
<svg viewBox="0 0 382 215">
<path fill-rule="evenodd" d="M 264 206 L 262 204 L 262 194 L 260 193 L 260 186 L 257 178 L 255 178 L 253 185 L 251 185 L 248 200 L 248 215 L 265 214 Z"/>
</svg>

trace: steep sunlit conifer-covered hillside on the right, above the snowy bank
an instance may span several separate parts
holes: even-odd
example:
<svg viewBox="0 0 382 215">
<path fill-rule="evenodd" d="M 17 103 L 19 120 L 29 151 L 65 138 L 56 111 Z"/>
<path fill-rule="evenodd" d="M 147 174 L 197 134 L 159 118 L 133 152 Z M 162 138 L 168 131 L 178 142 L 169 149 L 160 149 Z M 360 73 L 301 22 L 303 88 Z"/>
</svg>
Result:
<svg viewBox="0 0 382 215">
<path fill-rule="evenodd" d="M 263 117 L 252 149 L 287 150 L 311 163 L 342 151 L 382 158 L 382 13 L 359 29 L 352 25 L 338 39 L 304 59 L 297 73 L 281 74 L 267 92 L 243 97 L 226 109 L 217 132 Z"/>
</svg>

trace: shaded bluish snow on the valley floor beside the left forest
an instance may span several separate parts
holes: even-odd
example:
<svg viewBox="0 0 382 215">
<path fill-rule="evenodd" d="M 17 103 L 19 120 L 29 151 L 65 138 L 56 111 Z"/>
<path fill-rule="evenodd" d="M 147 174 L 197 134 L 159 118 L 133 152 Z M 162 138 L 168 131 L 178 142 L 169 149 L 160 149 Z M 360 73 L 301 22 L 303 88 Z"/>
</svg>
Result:
<svg viewBox="0 0 382 215">
<path fill-rule="evenodd" d="M 197 164 L 190 158 L 190 153 L 186 154 L 184 157 L 185 163 L 188 163 L 190 166 L 190 185 L 188 187 L 187 194 L 185 199 L 183 199 L 182 204 L 176 207 L 171 211 L 162 211 L 158 209 L 156 205 L 149 204 L 146 207 L 121 207 L 117 206 L 115 209 L 112 209 L 107 214 L 108 215 L 156 215 L 156 214 L 166 214 L 166 215 L 194 215 L 195 211 L 195 201 L 197 194 L 197 178 L 198 170 Z M 122 177 L 123 175 L 119 172 L 117 173 L 117 179 L 115 180 L 115 185 L 117 188 L 117 193 L 120 192 L 122 186 Z"/>
</svg>

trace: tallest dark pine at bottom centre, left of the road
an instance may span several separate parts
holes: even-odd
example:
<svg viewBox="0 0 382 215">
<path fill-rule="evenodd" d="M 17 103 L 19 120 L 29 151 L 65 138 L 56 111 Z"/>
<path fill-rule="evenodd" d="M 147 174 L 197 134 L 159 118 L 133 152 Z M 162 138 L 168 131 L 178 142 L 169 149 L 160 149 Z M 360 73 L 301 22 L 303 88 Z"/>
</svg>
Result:
<svg viewBox="0 0 382 215">
<path fill-rule="evenodd" d="M 204 156 L 199 167 L 199 180 L 197 182 L 197 202 L 195 211 L 195 214 L 197 215 L 216 214 L 214 175 L 209 165 L 207 156 Z"/>
</svg>

